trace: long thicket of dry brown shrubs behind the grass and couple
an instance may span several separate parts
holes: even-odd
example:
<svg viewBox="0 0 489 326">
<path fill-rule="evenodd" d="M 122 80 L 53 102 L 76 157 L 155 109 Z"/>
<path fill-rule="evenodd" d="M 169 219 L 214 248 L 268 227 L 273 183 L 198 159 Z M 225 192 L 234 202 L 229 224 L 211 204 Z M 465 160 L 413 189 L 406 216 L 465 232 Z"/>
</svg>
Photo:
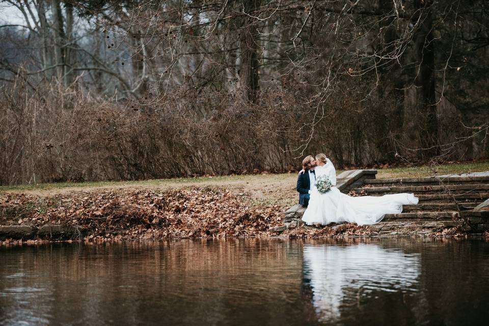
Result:
<svg viewBox="0 0 489 326">
<path fill-rule="evenodd" d="M 394 159 L 389 101 L 343 86 L 323 103 L 295 86 L 262 90 L 257 103 L 192 87 L 110 101 L 19 76 L 0 95 L 0 184 L 285 172 L 319 152 L 337 168 Z"/>
</svg>

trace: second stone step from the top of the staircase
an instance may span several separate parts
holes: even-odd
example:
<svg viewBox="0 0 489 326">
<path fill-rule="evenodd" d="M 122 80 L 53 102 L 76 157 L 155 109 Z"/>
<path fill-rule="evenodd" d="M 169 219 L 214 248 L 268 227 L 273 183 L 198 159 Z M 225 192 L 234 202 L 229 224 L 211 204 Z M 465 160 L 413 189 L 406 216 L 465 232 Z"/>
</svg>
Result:
<svg viewBox="0 0 489 326">
<path fill-rule="evenodd" d="M 442 185 L 418 185 L 418 186 L 383 186 L 383 187 L 361 187 L 354 188 L 353 191 L 360 193 L 365 192 L 372 195 L 381 194 L 396 194 L 396 193 L 433 193 L 443 194 L 450 191 L 453 194 L 460 193 L 486 193 L 489 191 L 489 183 L 479 184 L 450 184 L 446 186 Z"/>
</svg>

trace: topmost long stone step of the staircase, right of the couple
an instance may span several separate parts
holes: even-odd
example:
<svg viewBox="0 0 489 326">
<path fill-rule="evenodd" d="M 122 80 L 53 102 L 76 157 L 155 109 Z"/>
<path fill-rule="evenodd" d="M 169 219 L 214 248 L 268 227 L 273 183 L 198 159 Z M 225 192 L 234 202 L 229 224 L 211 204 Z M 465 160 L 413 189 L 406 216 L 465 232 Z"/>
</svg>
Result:
<svg viewBox="0 0 489 326">
<path fill-rule="evenodd" d="M 448 176 L 448 177 L 424 177 L 424 178 L 392 178 L 392 179 L 368 179 L 365 180 L 365 184 L 371 184 L 375 186 L 385 185 L 392 186 L 395 184 L 404 185 L 424 185 L 424 184 L 440 184 L 440 180 L 443 183 L 449 184 L 464 184 L 464 183 L 489 183 L 489 175 L 478 176 Z"/>
</svg>

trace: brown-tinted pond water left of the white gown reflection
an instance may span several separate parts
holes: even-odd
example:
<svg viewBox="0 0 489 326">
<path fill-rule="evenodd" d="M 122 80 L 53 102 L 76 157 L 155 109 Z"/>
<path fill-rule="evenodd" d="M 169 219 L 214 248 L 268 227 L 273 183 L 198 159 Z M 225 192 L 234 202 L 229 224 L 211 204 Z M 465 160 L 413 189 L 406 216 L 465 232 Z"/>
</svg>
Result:
<svg viewBox="0 0 489 326">
<path fill-rule="evenodd" d="M 129 242 L 10 248 L 2 255 L 35 277 L 12 280 L 43 288 L 0 295 L 2 312 L 100 324 L 302 324 L 301 244 L 258 239 Z M 0 265 L 0 280 L 10 271 Z M 0 293 L 9 287 L 0 283 Z M 55 316 L 55 317 L 53 317 Z M 253 316 L 253 318 L 252 318 Z M 1 324 L 0 319 L 0 324 Z"/>
</svg>

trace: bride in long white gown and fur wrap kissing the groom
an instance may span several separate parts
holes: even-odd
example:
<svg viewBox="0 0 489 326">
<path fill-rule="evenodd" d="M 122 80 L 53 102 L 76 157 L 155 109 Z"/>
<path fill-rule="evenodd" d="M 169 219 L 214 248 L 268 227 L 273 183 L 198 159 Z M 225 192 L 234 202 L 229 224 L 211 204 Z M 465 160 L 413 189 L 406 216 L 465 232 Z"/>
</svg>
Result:
<svg viewBox="0 0 489 326">
<path fill-rule="evenodd" d="M 327 175 L 332 186 L 326 193 L 319 193 L 316 187 L 311 187 L 309 205 L 302 217 L 307 225 L 318 223 L 327 225 L 332 222 L 375 224 L 380 222 L 385 214 L 400 213 L 402 205 L 418 203 L 417 197 L 405 193 L 382 197 L 350 197 L 341 193 L 336 187 L 336 170 L 326 155 L 317 154 L 316 164 L 317 167 L 314 169 L 316 178 Z M 300 173 L 304 173 L 303 171 Z"/>
</svg>

